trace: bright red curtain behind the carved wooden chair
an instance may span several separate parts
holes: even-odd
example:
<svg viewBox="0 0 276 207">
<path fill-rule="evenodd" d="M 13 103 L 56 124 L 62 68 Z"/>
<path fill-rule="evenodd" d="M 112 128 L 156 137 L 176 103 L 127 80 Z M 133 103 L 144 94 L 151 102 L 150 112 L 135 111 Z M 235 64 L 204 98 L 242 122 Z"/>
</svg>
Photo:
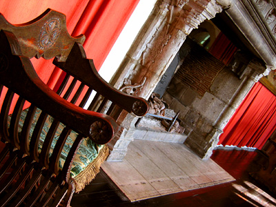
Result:
<svg viewBox="0 0 276 207">
<path fill-rule="evenodd" d="M 1 0 L 0 12 L 13 24 L 28 22 L 47 8 L 66 14 L 68 32 L 72 36 L 86 35 L 86 56 L 99 70 L 137 3 L 139 0 Z M 32 63 L 42 81 L 56 90 L 63 72 L 52 65 L 52 60 L 33 58 Z M 2 102 L 3 98 L 0 106 Z"/>
</svg>

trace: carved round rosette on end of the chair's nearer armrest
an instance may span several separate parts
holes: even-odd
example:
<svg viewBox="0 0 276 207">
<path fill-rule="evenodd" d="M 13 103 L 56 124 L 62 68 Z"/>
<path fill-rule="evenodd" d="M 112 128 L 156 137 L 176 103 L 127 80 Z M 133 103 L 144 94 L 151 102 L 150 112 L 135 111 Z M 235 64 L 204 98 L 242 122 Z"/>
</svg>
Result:
<svg viewBox="0 0 276 207">
<path fill-rule="evenodd" d="M 90 126 L 90 139 L 96 144 L 106 144 L 112 139 L 112 132 L 103 121 L 95 121 Z"/>
</svg>

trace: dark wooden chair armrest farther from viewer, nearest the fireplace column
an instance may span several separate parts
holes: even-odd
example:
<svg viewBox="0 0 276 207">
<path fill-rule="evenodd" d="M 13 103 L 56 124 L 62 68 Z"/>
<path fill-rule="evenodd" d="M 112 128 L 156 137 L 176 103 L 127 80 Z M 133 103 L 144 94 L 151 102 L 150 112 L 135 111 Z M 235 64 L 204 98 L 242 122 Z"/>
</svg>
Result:
<svg viewBox="0 0 276 207">
<path fill-rule="evenodd" d="M 121 92 L 101 78 L 93 60 L 86 59 L 86 52 L 80 43 L 75 43 L 72 47 L 66 62 L 55 59 L 53 63 L 124 110 L 133 112 L 137 116 L 144 116 L 148 112 L 148 101 Z"/>
</svg>

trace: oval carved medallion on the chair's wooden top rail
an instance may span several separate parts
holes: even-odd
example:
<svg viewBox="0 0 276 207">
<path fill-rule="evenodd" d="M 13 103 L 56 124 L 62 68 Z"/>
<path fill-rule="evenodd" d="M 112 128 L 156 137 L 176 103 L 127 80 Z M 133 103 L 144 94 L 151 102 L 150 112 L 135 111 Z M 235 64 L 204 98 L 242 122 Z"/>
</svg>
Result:
<svg viewBox="0 0 276 207">
<path fill-rule="evenodd" d="M 41 28 L 39 36 L 39 48 L 47 50 L 55 44 L 61 31 L 61 21 L 59 19 L 50 19 Z"/>
</svg>

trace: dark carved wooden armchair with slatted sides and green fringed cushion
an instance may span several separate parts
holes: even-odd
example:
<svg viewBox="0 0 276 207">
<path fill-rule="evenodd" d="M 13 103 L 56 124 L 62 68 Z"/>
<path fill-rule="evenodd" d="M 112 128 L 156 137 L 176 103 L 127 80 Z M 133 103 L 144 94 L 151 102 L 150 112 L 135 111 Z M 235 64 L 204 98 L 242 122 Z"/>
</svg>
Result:
<svg viewBox="0 0 276 207">
<path fill-rule="evenodd" d="M 97 173 L 81 174 L 77 164 L 72 170 L 76 157 L 86 157 L 86 172 L 99 168 L 122 110 L 146 114 L 147 101 L 101 79 L 86 59 L 83 41 L 83 35 L 70 37 L 66 17 L 53 10 L 17 26 L 0 15 L 0 206 L 69 205 L 72 193 L 83 188 L 80 183 Z M 57 92 L 39 79 L 32 57 L 55 57 L 66 72 Z"/>
</svg>

